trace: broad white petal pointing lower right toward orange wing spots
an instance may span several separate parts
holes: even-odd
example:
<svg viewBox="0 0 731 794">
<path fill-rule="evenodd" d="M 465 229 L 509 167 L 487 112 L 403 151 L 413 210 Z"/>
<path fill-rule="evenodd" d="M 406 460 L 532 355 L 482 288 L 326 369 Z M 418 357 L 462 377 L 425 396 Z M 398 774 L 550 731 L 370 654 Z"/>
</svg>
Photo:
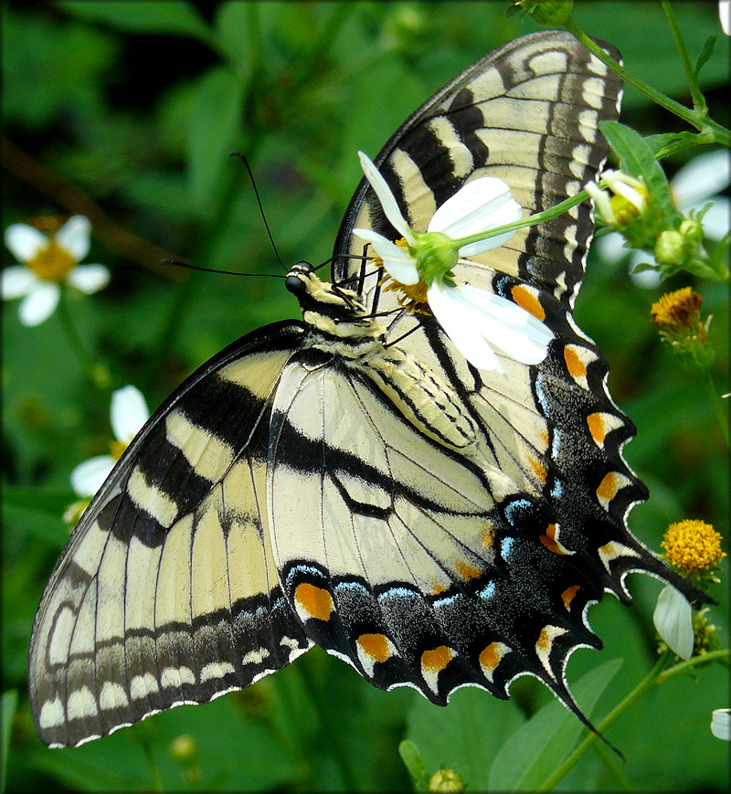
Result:
<svg viewBox="0 0 731 794">
<path fill-rule="evenodd" d="M 474 323 L 494 347 L 522 364 L 540 364 L 546 358 L 554 334 L 514 302 L 469 284 L 453 288 L 462 303 L 464 321 Z"/>
</svg>

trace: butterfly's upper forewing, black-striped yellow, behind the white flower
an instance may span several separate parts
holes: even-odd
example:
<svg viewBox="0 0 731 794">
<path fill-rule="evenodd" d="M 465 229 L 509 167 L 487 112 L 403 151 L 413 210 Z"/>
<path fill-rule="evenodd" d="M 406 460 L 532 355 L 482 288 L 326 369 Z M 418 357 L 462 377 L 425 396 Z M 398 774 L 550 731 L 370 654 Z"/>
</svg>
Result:
<svg viewBox="0 0 731 794">
<path fill-rule="evenodd" d="M 602 44 L 610 54 L 619 54 Z M 411 228 L 426 231 L 438 206 L 462 185 L 496 176 L 534 214 L 577 194 L 596 178 L 609 147 L 599 122 L 619 115 L 621 80 L 570 34 L 546 31 L 515 39 L 438 91 L 378 153 L 375 164 Z M 334 281 L 352 278 L 363 243 L 354 228 L 397 237 L 374 191 L 361 181 L 334 246 Z M 519 230 L 473 262 L 470 281 L 489 289 L 494 271 L 573 302 L 593 236 L 588 201 Z M 482 272 L 482 275 L 481 275 Z M 381 295 L 382 308 L 388 308 Z"/>
</svg>

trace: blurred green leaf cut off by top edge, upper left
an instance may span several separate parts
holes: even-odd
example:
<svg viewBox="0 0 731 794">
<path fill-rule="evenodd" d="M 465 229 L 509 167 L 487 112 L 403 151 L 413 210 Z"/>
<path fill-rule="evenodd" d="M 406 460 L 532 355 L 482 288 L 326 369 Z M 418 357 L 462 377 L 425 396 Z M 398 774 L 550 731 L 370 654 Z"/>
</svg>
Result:
<svg viewBox="0 0 731 794">
<path fill-rule="evenodd" d="M 209 42 L 211 37 L 206 23 L 189 3 L 66 0 L 58 6 L 71 16 L 87 22 L 100 22 L 128 33 L 189 36 L 204 42 Z"/>
</svg>

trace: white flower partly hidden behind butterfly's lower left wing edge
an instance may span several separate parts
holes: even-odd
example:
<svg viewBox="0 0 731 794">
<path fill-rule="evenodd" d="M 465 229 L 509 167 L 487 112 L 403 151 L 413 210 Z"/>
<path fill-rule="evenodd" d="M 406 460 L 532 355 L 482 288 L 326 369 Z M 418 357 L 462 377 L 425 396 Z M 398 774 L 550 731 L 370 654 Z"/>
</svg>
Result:
<svg viewBox="0 0 731 794">
<path fill-rule="evenodd" d="M 123 386 L 111 395 L 111 429 L 116 441 L 111 442 L 111 454 L 97 455 L 79 463 L 71 471 L 71 486 L 79 496 L 93 496 L 109 477 L 122 452 L 150 418 L 150 411 L 142 392 L 135 386 Z"/>
</svg>

